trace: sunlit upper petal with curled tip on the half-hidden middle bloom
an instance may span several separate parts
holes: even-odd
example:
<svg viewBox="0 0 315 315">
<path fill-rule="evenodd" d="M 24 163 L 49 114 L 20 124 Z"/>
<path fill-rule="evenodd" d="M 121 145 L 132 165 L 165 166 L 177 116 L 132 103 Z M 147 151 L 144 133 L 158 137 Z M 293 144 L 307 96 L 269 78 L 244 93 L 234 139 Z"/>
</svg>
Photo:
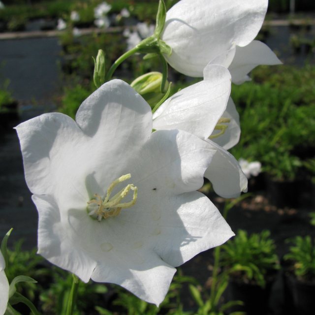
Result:
<svg viewBox="0 0 315 315">
<path fill-rule="evenodd" d="M 204 80 L 168 98 L 155 112 L 155 129 L 181 129 L 208 138 L 226 108 L 231 77 L 221 65 L 208 65 Z"/>
</svg>

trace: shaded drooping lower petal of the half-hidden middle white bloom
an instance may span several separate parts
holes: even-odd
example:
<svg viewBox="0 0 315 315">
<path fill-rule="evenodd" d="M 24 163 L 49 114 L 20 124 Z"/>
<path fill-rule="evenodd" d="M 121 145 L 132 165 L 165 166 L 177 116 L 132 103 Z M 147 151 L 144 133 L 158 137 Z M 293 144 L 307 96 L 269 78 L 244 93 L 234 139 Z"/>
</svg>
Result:
<svg viewBox="0 0 315 315">
<path fill-rule="evenodd" d="M 224 198 L 234 198 L 242 191 L 246 192 L 247 178 L 237 160 L 216 143 L 207 141 L 217 148 L 217 153 L 205 172 L 205 177 L 212 183 L 215 192 Z"/>
</svg>

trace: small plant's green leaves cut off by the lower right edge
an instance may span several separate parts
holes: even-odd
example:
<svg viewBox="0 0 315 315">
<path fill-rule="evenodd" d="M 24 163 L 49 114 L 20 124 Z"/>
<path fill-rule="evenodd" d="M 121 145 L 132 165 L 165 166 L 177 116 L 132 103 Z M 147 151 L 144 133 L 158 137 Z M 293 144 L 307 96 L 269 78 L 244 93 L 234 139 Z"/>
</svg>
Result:
<svg viewBox="0 0 315 315">
<path fill-rule="evenodd" d="M 293 264 L 295 276 L 302 281 L 315 281 L 315 244 L 311 236 L 296 236 L 292 240 L 289 252 L 284 255 L 285 260 Z"/>
</svg>

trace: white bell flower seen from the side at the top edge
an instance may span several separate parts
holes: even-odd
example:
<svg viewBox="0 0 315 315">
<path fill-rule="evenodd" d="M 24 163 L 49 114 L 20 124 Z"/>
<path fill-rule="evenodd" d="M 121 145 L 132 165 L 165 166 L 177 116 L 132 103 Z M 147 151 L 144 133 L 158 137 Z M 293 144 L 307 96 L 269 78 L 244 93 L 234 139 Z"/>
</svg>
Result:
<svg viewBox="0 0 315 315">
<path fill-rule="evenodd" d="M 202 77 L 207 63 L 229 67 L 242 83 L 258 64 L 281 63 L 262 42 L 268 0 L 181 0 L 166 14 L 161 39 L 172 48 L 167 62 L 179 72 Z"/>
</svg>

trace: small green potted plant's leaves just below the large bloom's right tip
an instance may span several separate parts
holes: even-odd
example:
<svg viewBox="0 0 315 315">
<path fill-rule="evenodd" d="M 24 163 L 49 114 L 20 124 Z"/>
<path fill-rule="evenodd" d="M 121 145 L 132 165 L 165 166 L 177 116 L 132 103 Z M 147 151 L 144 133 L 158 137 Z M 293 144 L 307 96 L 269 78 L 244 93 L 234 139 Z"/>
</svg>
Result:
<svg viewBox="0 0 315 315">
<path fill-rule="evenodd" d="M 275 249 L 268 230 L 250 236 L 238 230 L 232 240 L 222 245 L 222 265 L 233 278 L 264 287 L 269 273 L 279 269 Z"/>
</svg>

